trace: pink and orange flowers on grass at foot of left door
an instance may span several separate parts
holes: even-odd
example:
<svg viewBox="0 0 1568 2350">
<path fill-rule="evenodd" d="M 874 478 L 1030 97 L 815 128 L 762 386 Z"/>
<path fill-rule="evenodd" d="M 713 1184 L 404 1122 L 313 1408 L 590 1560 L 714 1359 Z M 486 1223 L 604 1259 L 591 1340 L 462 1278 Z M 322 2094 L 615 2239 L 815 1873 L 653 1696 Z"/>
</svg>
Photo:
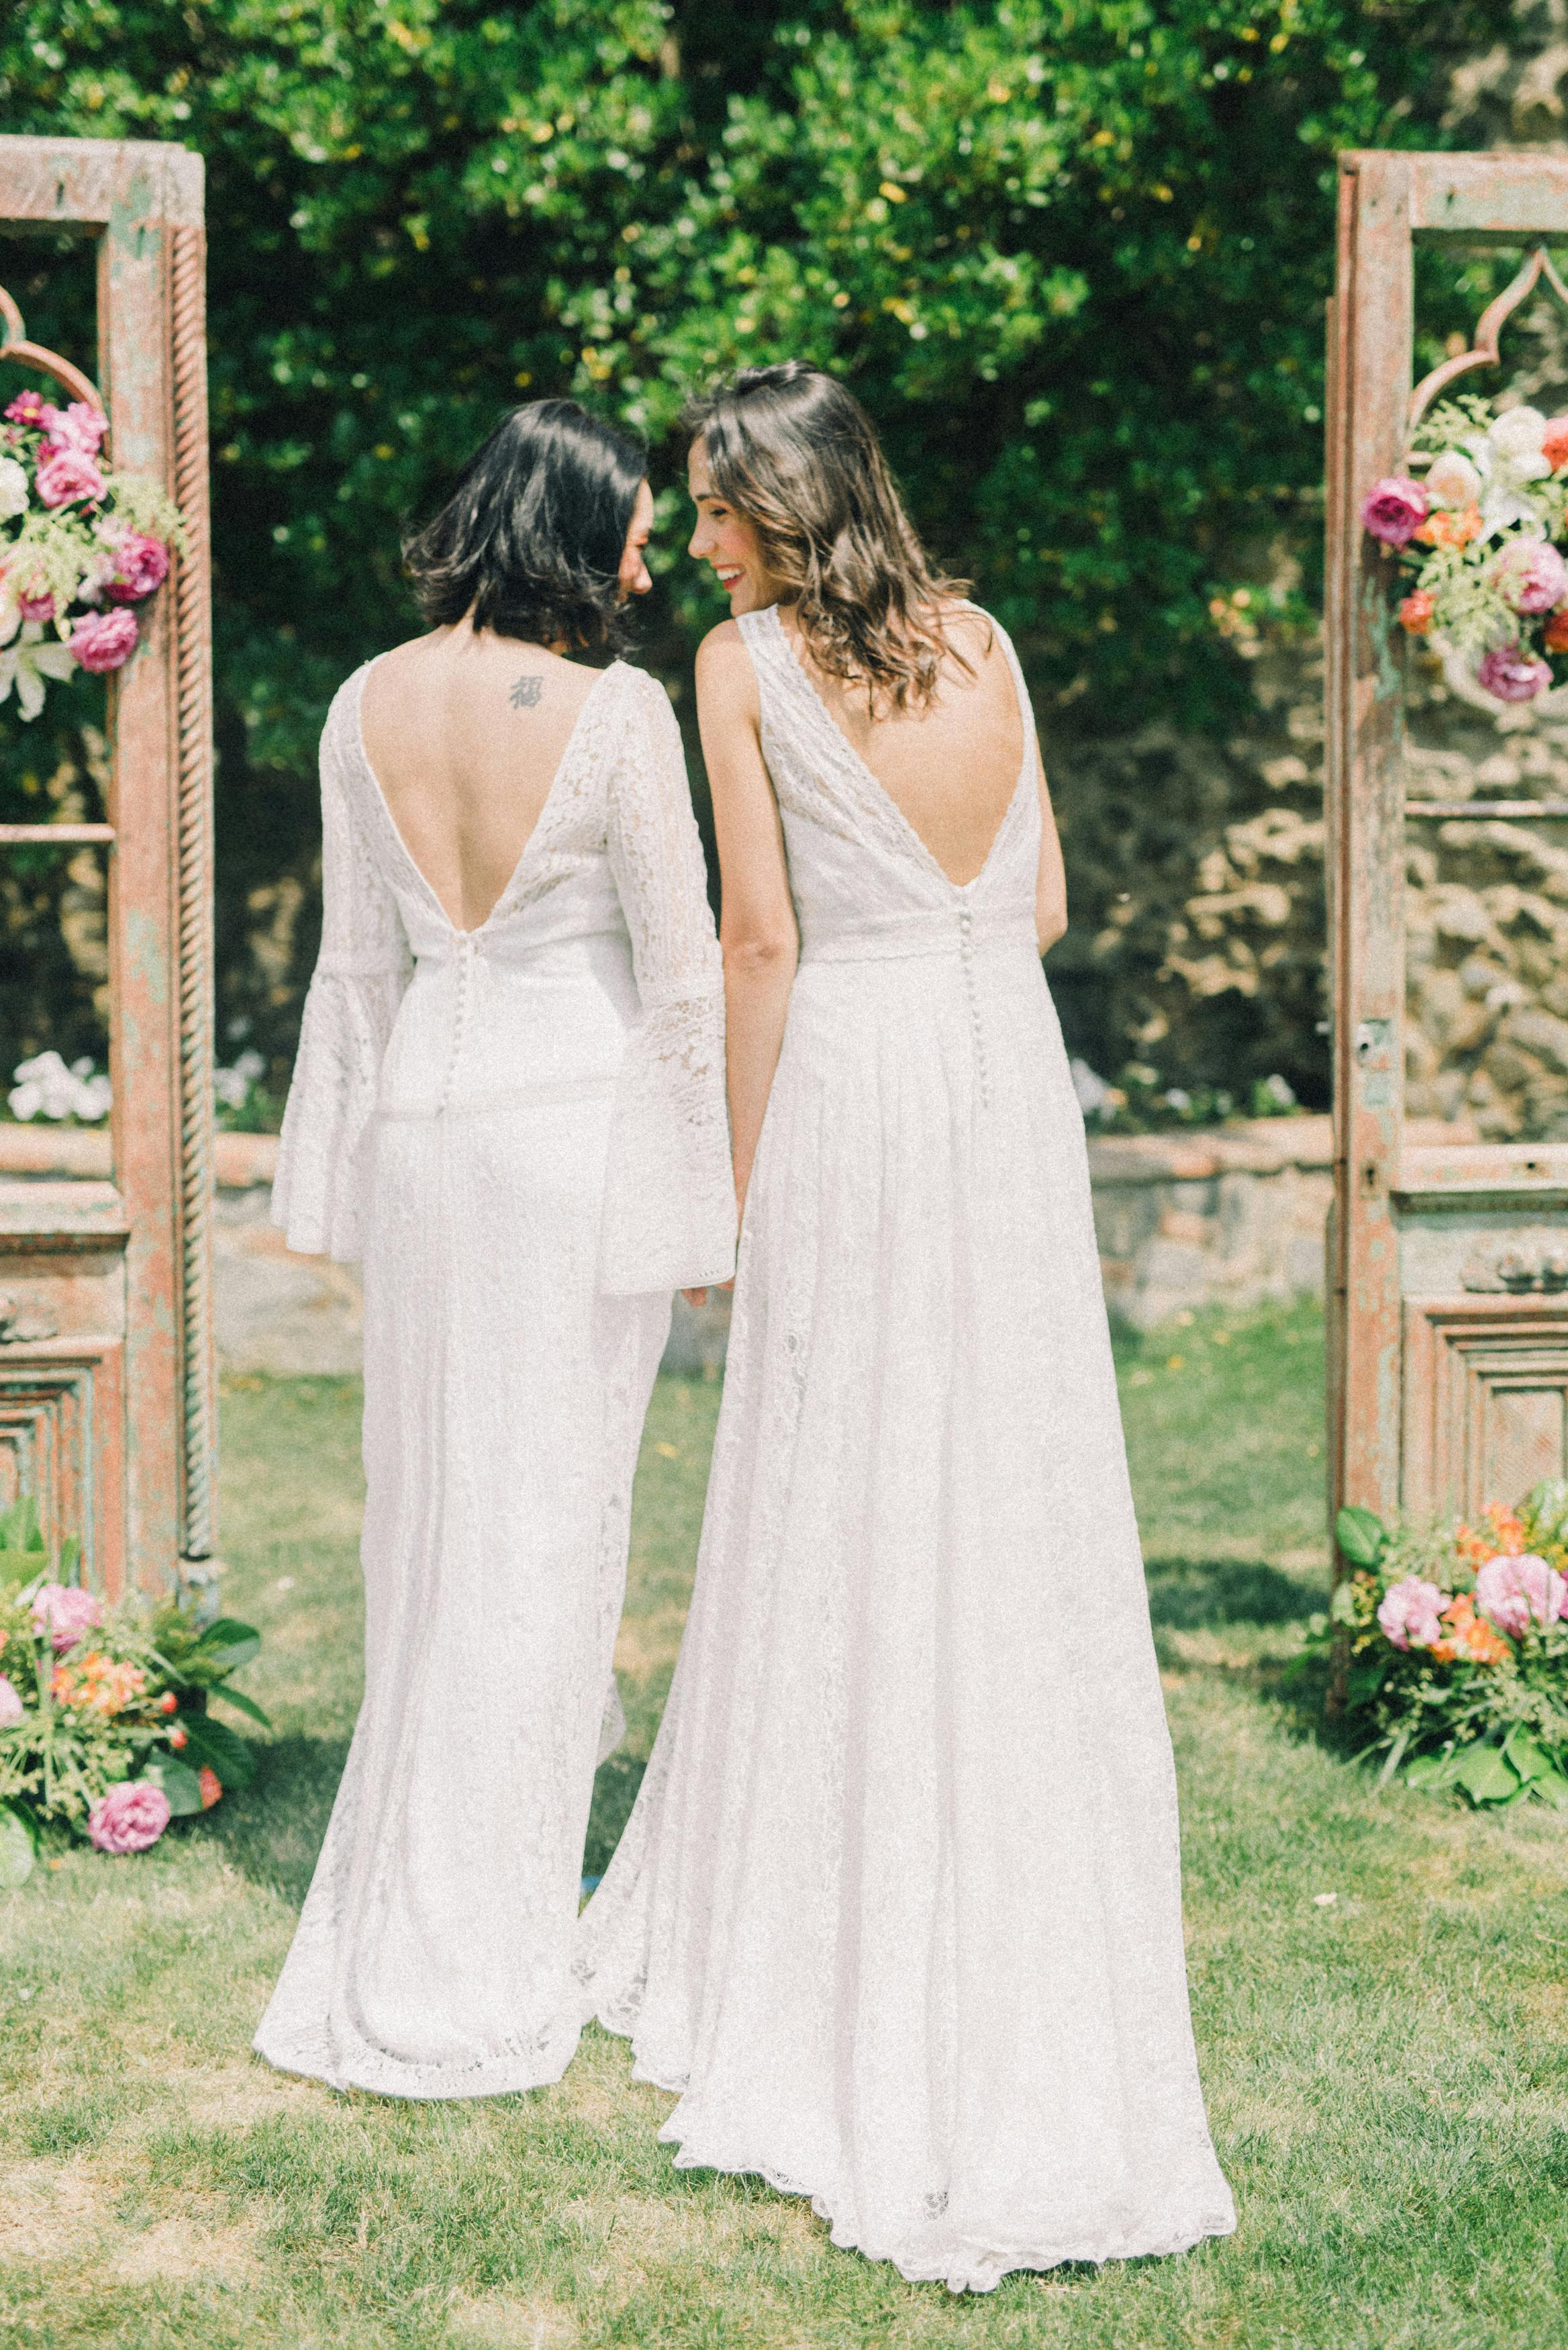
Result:
<svg viewBox="0 0 1568 2350">
<path fill-rule="evenodd" d="M 99 1852 L 146 1852 L 181 1814 L 247 1786 L 254 1753 L 212 1697 L 270 1727 L 228 1676 L 249 1624 L 200 1624 L 190 1600 L 108 1607 L 45 1551 L 31 1499 L 0 1513 L 0 1887 L 21 1885 L 45 1826 Z"/>
</svg>

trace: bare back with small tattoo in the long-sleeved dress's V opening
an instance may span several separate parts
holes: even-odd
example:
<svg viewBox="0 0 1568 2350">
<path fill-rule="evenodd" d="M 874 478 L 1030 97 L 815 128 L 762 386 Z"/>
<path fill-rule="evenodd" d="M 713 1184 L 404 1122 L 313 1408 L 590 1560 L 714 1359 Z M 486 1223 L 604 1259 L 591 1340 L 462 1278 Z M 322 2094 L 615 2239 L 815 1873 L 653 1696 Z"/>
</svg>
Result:
<svg viewBox="0 0 1568 2350">
<path fill-rule="evenodd" d="M 458 931 L 517 872 L 597 670 L 465 623 L 383 653 L 360 724 L 402 844 Z"/>
</svg>

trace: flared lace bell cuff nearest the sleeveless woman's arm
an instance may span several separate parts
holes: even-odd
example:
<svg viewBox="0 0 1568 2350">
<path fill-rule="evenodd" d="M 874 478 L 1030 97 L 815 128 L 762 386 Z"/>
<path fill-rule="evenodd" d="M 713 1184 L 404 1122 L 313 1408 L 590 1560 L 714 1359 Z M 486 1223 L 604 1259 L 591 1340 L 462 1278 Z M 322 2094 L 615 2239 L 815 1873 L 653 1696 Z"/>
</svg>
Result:
<svg viewBox="0 0 1568 2350">
<path fill-rule="evenodd" d="M 717 964 L 717 949 L 715 949 Z M 654 1001 L 616 1079 L 599 1227 L 599 1290 L 701 1288 L 736 1269 L 724 1107 L 724 989 Z"/>
</svg>

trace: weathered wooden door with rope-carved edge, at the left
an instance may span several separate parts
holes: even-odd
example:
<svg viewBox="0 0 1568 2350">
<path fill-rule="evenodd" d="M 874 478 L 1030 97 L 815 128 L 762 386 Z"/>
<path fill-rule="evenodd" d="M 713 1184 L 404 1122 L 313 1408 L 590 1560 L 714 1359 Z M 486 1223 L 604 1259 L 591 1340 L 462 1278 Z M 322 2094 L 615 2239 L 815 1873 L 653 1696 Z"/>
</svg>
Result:
<svg viewBox="0 0 1568 2350">
<path fill-rule="evenodd" d="M 82 1537 L 89 1582 L 167 1589 L 212 1553 L 212 684 L 202 160 L 110 139 L 0 139 L 0 223 L 96 242 L 110 461 L 162 482 L 188 552 L 110 682 L 101 825 L 0 825 L 108 858 L 113 1177 L 0 1184 L 0 1499 Z M 7 240 L 0 240 L 0 282 Z M 80 369 L 16 352 L 82 397 Z M 75 360 L 80 362 L 78 352 Z M 75 378 L 75 381 L 73 381 Z M 87 397 L 99 397 L 92 385 Z"/>
</svg>

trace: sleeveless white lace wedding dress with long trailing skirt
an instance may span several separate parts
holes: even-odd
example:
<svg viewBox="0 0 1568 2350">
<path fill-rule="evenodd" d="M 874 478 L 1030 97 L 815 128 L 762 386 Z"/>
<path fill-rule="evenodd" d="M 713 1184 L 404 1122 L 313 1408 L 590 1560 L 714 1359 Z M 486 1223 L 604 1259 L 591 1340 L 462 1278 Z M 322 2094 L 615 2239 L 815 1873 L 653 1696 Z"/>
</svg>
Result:
<svg viewBox="0 0 1568 2350">
<path fill-rule="evenodd" d="M 1234 2211 L 1032 759 L 957 888 L 778 613 L 741 632 L 802 961 L 691 1617 L 581 1922 L 583 2012 L 682 2092 L 682 2164 L 811 2195 L 905 2277 L 1178 2251 Z"/>
</svg>

